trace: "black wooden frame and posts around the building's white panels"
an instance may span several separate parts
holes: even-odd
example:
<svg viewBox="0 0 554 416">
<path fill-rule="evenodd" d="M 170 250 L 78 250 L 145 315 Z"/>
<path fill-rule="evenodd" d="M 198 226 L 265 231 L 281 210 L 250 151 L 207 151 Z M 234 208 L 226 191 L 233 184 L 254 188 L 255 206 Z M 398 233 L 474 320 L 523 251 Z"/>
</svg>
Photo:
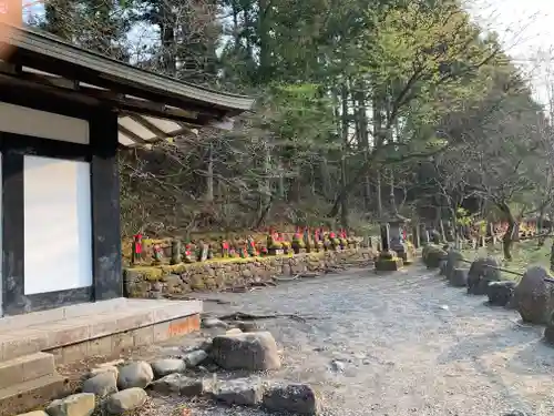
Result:
<svg viewBox="0 0 554 416">
<path fill-rule="evenodd" d="M 6 89 L 0 101 L 86 120 L 90 144 L 0 132 L 2 152 L 2 310 L 18 315 L 75 303 L 123 296 L 117 173 L 117 115 L 43 94 L 18 95 Z M 38 155 L 91 165 L 92 263 L 90 287 L 24 295 L 23 158 Z"/>
</svg>

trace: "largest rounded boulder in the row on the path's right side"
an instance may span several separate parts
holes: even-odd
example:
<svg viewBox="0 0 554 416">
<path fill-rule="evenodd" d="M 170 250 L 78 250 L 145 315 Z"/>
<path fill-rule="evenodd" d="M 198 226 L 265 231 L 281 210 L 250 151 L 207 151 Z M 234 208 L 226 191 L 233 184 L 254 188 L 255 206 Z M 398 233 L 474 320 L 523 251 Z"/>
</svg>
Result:
<svg viewBox="0 0 554 416">
<path fill-rule="evenodd" d="M 523 322 L 546 324 L 554 307 L 554 285 L 543 267 L 530 267 L 514 290 L 514 302 Z"/>
</svg>

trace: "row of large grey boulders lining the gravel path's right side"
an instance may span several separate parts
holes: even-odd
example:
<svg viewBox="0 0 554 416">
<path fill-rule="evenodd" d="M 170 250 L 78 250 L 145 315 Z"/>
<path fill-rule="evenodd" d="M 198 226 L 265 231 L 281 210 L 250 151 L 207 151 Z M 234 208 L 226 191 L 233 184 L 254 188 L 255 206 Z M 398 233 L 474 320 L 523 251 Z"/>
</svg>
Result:
<svg viewBox="0 0 554 416">
<path fill-rule="evenodd" d="M 545 341 L 554 345 L 554 277 L 541 266 L 525 273 L 501 267 L 494 257 L 466 261 L 462 253 L 429 244 L 422 258 L 428 268 L 438 268 L 449 284 L 466 288 L 468 294 L 488 296 L 491 306 L 515 310 L 525 323 L 545 325 Z M 514 276 L 505 278 L 502 272 Z"/>
</svg>

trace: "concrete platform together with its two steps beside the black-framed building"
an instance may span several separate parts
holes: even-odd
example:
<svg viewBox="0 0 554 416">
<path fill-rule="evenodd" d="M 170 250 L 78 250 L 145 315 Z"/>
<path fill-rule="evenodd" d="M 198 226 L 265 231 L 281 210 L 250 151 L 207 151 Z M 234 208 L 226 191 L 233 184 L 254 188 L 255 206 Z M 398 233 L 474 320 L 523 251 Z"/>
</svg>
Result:
<svg viewBox="0 0 554 416">
<path fill-rule="evenodd" d="M 119 298 L 0 318 L 0 415 L 71 393 L 58 365 L 197 331 L 201 312 L 201 301 Z"/>
</svg>

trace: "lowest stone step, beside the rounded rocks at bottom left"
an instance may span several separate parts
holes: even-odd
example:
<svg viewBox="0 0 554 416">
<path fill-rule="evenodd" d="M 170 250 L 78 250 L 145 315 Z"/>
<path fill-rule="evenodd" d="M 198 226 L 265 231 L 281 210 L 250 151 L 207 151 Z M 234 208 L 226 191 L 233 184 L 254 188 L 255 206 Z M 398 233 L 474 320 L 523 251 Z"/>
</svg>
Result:
<svg viewBox="0 0 554 416">
<path fill-rule="evenodd" d="M 0 389 L 0 415 L 19 415 L 43 406 L 51 399 L 69 395 L 70 383 L 51 374 Z"/>
</svg>

